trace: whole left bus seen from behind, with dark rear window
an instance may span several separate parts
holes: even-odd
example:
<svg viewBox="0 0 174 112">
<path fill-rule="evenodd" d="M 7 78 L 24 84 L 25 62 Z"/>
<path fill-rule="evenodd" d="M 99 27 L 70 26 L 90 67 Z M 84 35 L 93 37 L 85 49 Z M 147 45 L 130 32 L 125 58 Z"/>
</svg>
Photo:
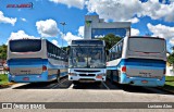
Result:
<svg viewBox="0 0 174 112">
<path fill-rule="evenodd" d="M 47 39 L 9 40 L 9 82 L 36 83 L 67 76 L 67 54 Z"/>
</svg>

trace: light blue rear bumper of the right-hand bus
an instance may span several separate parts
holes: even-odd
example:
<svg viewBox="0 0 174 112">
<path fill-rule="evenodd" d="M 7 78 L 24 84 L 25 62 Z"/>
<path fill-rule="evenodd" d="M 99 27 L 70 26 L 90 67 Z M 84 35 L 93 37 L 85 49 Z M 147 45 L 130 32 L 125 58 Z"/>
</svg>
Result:
<svg viewBox="0 0 174 112">
<path fill-rule="evenodd" d="M 122 74 L 120 83 L 129 84 L 134 86 L 158 87 L 158 86 L 164 86 L 165 76 L 163 76 L 162 79 L 158 79 L 158 78 L 145 78 L 145 77 L 127 77 L 126 74 Z"/>
</svg>

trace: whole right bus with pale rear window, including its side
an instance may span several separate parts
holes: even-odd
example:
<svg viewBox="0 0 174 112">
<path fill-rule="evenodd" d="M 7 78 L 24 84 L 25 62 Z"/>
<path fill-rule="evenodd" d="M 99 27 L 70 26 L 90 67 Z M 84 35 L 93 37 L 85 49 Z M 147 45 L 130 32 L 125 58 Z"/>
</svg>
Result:
<svg viewBox="0 0 174 112">
<path fill-rule="evenodd" d="M 166 43 L 159 37 L 125 37 L 109 50 L 107 77 L 111 83 L 163 86 Z"/>
</svg>

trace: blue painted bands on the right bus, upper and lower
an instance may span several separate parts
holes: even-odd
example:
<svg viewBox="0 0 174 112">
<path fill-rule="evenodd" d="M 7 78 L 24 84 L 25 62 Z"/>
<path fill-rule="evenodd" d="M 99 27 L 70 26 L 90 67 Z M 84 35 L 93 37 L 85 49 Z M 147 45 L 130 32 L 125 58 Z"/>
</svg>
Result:
<svg viewBox="0 0 174 112">
<path fill-rule="evenodd" d="M 165 69 L 165 61 L 160 60 L 147 60 L 147 59 L 122 59 L 121 62 L 115 66 L 107 66 L 107 70 L 119 70 L 122 65 L 126 65 L 128 69 L 140 69 L 140 70 L 164 70 Z M 117 76 L 113 76 L 115 82 L 119 80 Z M 129 84 L 134 82 L 133 85 L 135 86 L 163 86 L 165 83 L 165 76 L 162 79 L 158 78 L 146 78 L 146 77 L 127 77 L 125 73 L 121 74 L 120 78 L 121 84 Z M 142 80 L 148 80 L 147 84 L 141 83 Z"/>
</svg>

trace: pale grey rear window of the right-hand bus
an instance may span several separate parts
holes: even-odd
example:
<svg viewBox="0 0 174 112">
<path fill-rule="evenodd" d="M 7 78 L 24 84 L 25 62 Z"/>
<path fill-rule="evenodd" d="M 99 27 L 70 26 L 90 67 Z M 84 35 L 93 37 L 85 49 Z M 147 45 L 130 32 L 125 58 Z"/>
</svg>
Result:
<svg viewBox="0 0 174 112">
<path fill-rule="evenodd" d="M 159 38 L 129 38 L 128 48 L 134 52 L 161 53 L 165 50 L 165 40 Z"/>
</svg>

